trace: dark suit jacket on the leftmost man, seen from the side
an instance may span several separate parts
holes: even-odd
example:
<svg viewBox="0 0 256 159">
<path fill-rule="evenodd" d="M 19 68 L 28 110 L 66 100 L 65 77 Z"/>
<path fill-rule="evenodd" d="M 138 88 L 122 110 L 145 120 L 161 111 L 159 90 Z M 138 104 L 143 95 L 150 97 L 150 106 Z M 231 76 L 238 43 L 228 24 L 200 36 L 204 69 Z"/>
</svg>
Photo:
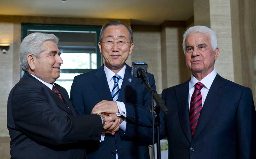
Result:
<svg viewBox="0 0 256 159">
<path fill-rule="evenodd" d="M 7 106 L 12 158 L 84 159 L 85 141 L 100 140 L 100 117 L 78 116 L 67 91 L 55 86 L 66 104 L 28 72 L 12 88 Z"/>
</svg>

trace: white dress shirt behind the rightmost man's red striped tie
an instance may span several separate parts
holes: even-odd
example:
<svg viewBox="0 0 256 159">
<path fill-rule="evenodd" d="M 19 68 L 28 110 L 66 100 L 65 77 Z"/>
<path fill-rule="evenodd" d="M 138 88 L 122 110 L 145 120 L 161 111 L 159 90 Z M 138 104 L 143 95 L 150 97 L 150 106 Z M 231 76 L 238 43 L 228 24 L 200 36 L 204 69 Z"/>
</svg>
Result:
<svg viewBox="0 0 256 159">
<path fill-rule="evenodd" d="M 205 101 L 205 98 L 209 92 L 209 89 L 210 87 L 212 86 L 212 82 L 213 80 L 215 79 L 217 73 L 215 71 L 215 69 L 209 73 L 207 76 L 205 76 L 201 81 L 197 80 L 196 77 L 193 76 L 193 74 L 191 74 L 191 79 L 189 81 L 189 88 L 188 88 L 188 111 L 190 109 L 190 101 L 191 101 L 191 97 L 194 93 L 194 90 L 195 90 L 195 84 L 197 82 L 201 82 L 203 83 L 204 87 L 201 89 L 201 95 L 202 95 L 202 109 L 203 109 L 203 106 L 204 106 L 204 101 Z"/>
</svg>

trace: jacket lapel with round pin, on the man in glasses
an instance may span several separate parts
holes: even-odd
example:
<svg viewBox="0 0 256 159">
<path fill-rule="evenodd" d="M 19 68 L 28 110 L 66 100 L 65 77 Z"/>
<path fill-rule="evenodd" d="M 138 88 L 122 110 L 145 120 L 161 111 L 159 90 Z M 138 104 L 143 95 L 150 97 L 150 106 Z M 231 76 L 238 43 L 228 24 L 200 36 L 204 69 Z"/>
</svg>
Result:
<svg viewBox="0 0 256 159">
<path fill-rule="evenodd" d="M 139 78 L 132 77 L 131 71 L 132 71 L 132 68 L 130 66 L 126 65 L 124 79 L 122 82 L 122 86 L 121 86 L 117 101 L 125 102 L 127 99 L 129 99 L 129 96 L 132 93 L 133 87 L 135 86 L 135 84 L 137 82 L 140 81 Z M 129 82 L 128 79 L 131 79 L 132 81 Z"/>
</svg>

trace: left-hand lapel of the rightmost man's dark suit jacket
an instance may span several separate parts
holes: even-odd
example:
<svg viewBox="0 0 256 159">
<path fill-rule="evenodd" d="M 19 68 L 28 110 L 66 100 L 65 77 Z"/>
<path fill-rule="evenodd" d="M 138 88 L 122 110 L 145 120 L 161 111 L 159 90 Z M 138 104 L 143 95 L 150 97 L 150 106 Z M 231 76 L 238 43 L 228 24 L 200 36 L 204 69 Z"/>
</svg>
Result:
<svg viewBox="0 0 256 159">
<path fill-rule="evenodd" d="M 181 127 L 189 140 L 191 142 L 191 131 L 189 125 L 189 112 L 188 112 L 188 84 L 189 80 L 185 82 L 181 87 L 175 88 L 177 107 L 179 113 L 179 119 Z"/>
</svg>

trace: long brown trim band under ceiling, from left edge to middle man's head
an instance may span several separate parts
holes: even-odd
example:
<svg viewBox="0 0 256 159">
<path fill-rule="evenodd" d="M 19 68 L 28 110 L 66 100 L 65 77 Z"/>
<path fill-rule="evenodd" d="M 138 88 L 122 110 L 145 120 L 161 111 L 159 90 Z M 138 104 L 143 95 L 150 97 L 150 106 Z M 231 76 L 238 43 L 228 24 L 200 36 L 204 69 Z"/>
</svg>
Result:
<svg viewBox="0 0 256 159">
<path fill-rule="evenodd" d="M 38 24 L 68 24 L 68 25 L 95 25 L 102 26 L 112 20 L 121 20 L 131 26 L 130 19 L 96 19 L 96 18 L 65 18 L 65 17 L 40 17 L 0 15 L 0 22 L 10 23 L 38 23 Z"/>
</svg>

